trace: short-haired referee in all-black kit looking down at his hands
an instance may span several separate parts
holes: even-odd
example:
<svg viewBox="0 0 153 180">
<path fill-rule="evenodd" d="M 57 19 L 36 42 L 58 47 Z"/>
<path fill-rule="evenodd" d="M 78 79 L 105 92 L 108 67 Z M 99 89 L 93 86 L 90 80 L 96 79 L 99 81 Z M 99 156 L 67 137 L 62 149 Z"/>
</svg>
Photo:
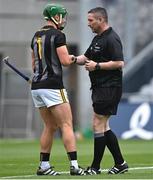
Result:
<svg viewBox="0 0 153 180">
<path fill-rule="evenodd" d="M 128 165 L 121 154 L 117 137 L 109 126 L 109 118 L 116 115 L 122 95 L 122 44 L 108 25 L 104 8 L 96 7 L 88 12 L 88 26 L 96 36 L 85 54 L 75 58 L 78 65 L 85 65 L 89 71 L 92 89 L 94 157 L 87 173 L 101 173 L 100 163 L 106 146 L 114 158 L 114 166 L 108 173 L 124 173 L 128 171 Z"/>
</svg>

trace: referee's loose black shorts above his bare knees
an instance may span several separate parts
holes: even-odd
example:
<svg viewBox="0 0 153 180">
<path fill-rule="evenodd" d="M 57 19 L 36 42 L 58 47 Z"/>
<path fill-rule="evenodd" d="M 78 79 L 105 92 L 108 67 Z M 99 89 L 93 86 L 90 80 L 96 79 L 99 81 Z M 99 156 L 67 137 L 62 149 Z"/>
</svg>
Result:
<svg viewBox="0 0 153 180">
<path fill-rule="evenodd" d="M 121 95 L 121 87 L 94 88 L 92 90 L 94 112 L 100 115 L 116 115 Z"/>
</svg>

